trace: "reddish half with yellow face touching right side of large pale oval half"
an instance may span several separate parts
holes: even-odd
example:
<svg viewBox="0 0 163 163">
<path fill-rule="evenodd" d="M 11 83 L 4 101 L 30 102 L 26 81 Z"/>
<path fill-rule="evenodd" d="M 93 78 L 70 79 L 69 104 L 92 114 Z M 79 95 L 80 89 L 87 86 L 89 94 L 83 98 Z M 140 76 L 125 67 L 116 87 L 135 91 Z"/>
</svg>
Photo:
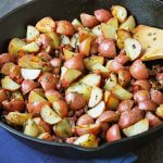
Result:
<svg viewBox="0 0 163 163">
<path fill-rule="evenodd" d="M 67 115 L 67 105 L 63 100 L 54 101 L 52 108 L 61 117 Z"/>
</svg>

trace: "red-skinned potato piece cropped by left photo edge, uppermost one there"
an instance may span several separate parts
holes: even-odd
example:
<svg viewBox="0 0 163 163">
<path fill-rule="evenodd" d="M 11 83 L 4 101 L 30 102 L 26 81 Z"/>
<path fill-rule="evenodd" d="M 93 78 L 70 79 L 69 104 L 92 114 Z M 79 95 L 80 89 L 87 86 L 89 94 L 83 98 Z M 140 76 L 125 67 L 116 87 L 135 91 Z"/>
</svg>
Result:
<svg viewBox="0 0 163 163">
<path fill-rule="evenodd" d="M 14 62 L 14 57 L 10 53 L 0 54 L 0 68 L 4 63 Z"/>
</svg>

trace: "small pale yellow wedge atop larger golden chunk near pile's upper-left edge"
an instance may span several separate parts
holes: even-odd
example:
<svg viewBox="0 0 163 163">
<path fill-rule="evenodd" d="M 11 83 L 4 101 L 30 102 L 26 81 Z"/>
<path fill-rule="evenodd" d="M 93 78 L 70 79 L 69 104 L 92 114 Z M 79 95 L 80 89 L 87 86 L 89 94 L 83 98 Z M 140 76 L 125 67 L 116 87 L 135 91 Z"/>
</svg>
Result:
<svg viewBox="0 0 163 163">
<path fill-rule="evenodd" d="M 32 43 L 23 46 L 20 50 L 21 52 L 23 51 L 23 52 L 35 53 L 39 51 L 39 46 L 34 41 Z"/>
</svg>

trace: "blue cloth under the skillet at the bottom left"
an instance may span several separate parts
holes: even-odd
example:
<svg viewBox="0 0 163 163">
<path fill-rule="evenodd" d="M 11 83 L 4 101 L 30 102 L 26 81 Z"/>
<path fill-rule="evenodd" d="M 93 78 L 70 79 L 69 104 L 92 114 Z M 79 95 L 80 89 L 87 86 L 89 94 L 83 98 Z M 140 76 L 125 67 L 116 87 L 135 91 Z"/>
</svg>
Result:
<svg viewBox="0 0 163 163">
<path fill-rule="evenodd" d="M 134 163 L 136 160 L 136 155 L 128 153 L 111 160 L 68 161 L 36 151 L 0 127 L 0 163 Z"/>
</svg>

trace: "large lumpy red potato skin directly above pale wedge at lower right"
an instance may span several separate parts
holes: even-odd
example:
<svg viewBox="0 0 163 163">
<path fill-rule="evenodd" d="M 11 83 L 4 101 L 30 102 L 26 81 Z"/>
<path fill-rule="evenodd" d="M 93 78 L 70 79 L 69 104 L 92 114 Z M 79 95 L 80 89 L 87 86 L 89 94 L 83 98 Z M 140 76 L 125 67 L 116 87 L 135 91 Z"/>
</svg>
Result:
<svg viewBox="0 0 163 163">
<path fill-rule="evenodd" d="M 127 128 L 143 118 L 143 112 L 135 108 L 121 114 L 118 126 L 121 129 Z"/>
</svg>

